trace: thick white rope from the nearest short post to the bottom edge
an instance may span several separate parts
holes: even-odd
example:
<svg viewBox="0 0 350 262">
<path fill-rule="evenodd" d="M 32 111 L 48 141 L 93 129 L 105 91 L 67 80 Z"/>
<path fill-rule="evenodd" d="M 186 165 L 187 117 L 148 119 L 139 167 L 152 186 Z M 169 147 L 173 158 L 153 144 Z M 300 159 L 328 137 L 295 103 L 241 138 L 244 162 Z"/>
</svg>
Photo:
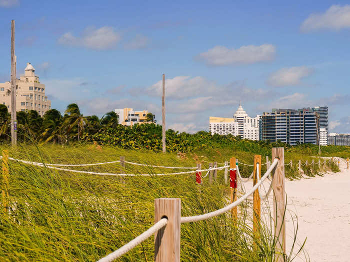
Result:
<svg viewBox="0 0 350 262">
<path fill-rule="evenodd" d="M 166 224 L 167 224 L 166 218 L 159 220 L 157 223 L 155 223 L 153 226 L 151 226 L 141 235 L 137 236 L 136 238 L 131 240 L 129 243 L 125 244 L 124 246 L 110 253 L 104 258 L 98 260 L 97 262 L 111 262 L 117 258 L 120 258 L 122 255 L 129 252 L 131 249 L 133 249 L 134 247 L 136 247 L 137 245 L 139 245 L 140 243 L 148 239 L 150 236 L 152 236 L 155 232 L 157 232 L 159 229 L 164 227 Z"/>
</svg>

